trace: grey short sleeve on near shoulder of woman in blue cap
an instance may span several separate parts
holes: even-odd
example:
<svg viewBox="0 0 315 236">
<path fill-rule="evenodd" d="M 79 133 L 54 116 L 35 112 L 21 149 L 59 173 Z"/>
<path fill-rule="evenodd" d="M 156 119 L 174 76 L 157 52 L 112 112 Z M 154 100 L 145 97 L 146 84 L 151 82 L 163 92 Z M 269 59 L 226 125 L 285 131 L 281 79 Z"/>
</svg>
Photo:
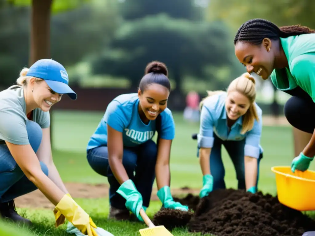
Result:
<svg viewBox="0 0 315 236">
<path fill-rule="evenodd" d="M 0 110 L 0 139 L 17 145 L 29 144 L 23 116 L 13 109 Z"/>
</svg>

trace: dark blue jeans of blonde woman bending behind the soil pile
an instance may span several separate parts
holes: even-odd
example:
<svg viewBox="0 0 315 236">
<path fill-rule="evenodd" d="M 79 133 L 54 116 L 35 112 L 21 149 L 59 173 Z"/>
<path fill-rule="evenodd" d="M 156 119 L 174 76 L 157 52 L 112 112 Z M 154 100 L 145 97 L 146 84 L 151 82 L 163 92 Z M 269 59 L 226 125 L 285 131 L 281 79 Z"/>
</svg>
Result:
<svg viewBox="0 0 315 236">
<path fill-rule="evenodd" d="M 235 171 L 236 178 L 238 180 L 238 189 L 246 189 L 245 186 L 245 165 L 244 165 L 244 146 L 245 139 L 240 141 L 223 141 L 218 136 L 213 134 L 214 143 L 210 153 L 210 172 L 213 176 L 213 190 L 218 188 L 226 188 L 224 182 L 225 169 L 222 162 L 221 147 L 222 144 L 225 147 L 227 153 L 229 154 Z M 258 184 L 259 177 L 259 163 L 262 158 L 262 153 L 257 160 L 257 181 Z"/>
</svg>

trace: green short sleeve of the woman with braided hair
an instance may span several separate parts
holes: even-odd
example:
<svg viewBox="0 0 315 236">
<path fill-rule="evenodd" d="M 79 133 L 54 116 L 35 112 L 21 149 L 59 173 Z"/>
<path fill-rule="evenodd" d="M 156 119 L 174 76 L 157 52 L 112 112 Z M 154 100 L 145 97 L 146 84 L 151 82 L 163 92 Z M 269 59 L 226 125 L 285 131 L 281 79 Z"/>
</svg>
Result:
<svg viewBox="0 0 315 236">
<path fill-rule="evenodd" d="M 315 102 L 315 53 L 302 54 L 292 60 L 290 72 L 296 83 Z"/>
</svg>

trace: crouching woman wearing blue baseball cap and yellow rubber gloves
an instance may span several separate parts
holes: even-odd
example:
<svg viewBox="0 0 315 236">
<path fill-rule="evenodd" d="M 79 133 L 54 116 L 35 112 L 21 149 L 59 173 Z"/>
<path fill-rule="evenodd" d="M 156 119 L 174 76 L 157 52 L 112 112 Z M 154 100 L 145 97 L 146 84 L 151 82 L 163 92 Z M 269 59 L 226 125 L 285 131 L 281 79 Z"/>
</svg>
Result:
<svg viewBox="0 0 315 236">
<path fill-rule="evenodd" d="M 41 59 L 20 72 L 17 84 L 0 92 L 0 215 L 31 224 L 17 214 L 13 199 L 38 188 L 56 206 L 56 227 L 67 218 L 82 233 L 97 235 L 52 159 L 49 110 L 63 94 L 77 98 L 66 69 L 52 59 Z"/>
</svg>

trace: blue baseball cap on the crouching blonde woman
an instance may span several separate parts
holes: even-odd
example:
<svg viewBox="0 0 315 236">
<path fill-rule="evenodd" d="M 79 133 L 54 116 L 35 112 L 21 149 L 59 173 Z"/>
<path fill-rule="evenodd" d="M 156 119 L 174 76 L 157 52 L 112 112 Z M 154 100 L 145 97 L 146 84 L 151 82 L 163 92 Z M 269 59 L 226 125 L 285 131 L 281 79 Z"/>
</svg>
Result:
<svg viewBox="0 0 315 236">
<path fill-rule="evenodd" d="M 31 65 L 26 76 L 43 79 L 56 93 L 68 94 L 72 100 L 77 99 L 77 94 L 69 87 L 68 73 L 59 62 L 53 59 L 40 59 Z"/>
</svg>

